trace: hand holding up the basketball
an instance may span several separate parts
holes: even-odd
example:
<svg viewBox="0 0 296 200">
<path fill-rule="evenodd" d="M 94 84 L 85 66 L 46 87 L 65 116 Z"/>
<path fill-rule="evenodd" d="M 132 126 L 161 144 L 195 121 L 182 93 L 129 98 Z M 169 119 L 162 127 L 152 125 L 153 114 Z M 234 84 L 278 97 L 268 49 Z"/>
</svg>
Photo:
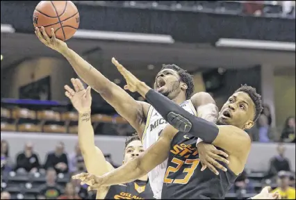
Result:
<svg viewBox="0 0 296 200">
<path fill-rule="evenodd" d="M 54 34 L 54 28 L 51 28 L 51 38 L 49 37 L 49 35 L 47 35 L 47 32 L 45 31 L 43 26 L 41 26 L 41 28 L 36 27 L 35 34 L 43 44 L 60 53 L 68 48 L 66 42 L 63 42 L 62 40 L 58 40 L 58 38 L 56 38 L 56 34 Z"/>
</svg>

